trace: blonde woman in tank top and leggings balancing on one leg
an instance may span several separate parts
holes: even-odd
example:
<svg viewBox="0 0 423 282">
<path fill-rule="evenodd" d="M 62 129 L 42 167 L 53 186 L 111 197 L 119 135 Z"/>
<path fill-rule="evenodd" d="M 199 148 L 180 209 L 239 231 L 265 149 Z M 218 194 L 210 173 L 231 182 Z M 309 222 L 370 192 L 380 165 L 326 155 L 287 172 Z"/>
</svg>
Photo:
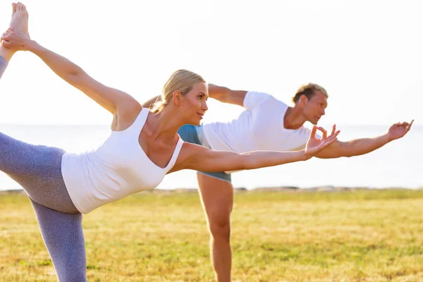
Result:
<svg viewBox="0 0 423 282">
<path fill-rule="evenodd" d="M 314 126 L 305 149 L 296 152 L 213 151 L 183 142 L 177 133 L 184 124 L 199 125 L 207 111 L 208 87 L 200 75 L 185 70 L 173 73 L 152 113 L 129 94 L 102 85 L 30 39 L 23 4 L 13 5 L 11 28 L 1 40 L 1 73 L 15 51 L 31 51 L 113 115 L 110 137 L 84 154 L 29 145 L 0 133 L 0 170 L 30 197 L 59 281 L 86 281 L 82 214 L 154 189 L 166 173 L 181 169 L 233 171 L 303 161 L 335 142 L 339 133 L 333 128 L 326 137 L 323 128 Z M 323 131 L 321 139 L 315 137 L 317 129 Z"/>
</svg>

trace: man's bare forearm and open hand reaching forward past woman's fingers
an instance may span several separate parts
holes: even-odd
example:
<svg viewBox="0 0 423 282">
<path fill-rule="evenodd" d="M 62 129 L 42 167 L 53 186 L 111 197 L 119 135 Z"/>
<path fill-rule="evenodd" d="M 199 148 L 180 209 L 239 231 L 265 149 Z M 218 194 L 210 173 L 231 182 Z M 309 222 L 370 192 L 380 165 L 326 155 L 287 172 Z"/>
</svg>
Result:
<svg viewBox="0 0 423 282">
<path fill-rule="evenodd" d="M 414 121 L 414 120 L 413 120 Z M 403 137 L 410 130 L 413 123 L 396 123 L 389 128 L 388 133 L 374 138 L 362 138 L 348 142 L 336 141 L 329 147 L 321 150 L 316 157 L 332 159 L 338 157 L 353 157 L 373 152 L 393 140 Z M 326 133 L 324 133 L 326 135 Z"/>
</svg>

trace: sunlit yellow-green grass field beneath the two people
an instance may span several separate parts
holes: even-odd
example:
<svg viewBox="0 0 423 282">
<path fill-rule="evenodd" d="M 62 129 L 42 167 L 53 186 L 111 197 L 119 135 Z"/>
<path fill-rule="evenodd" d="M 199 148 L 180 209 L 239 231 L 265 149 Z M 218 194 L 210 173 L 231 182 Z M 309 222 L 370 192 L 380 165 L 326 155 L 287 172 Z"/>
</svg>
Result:
<svg viewBox="0 0 423 282">
<path fill-rule="evenodd" d="M 30 202 L 0 196 L 0 281 L 56 281 Z M 214 281 L 196 193 L 84 217 L 88 281 Z M 423 190 L 239 192 L 233 281 L 423 281 Z"/>
</svg>

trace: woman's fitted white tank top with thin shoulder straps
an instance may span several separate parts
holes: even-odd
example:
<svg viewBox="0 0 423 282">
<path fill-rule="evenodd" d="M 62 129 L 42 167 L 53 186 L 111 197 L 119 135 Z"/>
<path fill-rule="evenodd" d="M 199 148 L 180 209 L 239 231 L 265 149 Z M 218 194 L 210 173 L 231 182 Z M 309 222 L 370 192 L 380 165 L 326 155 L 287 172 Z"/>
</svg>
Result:
<svg viewBox="0 0 423 282">
<path fill-rule="evenodd" d="M 133 193 L 156 188 L 175 164 L 183 145 L 181 138 L 165 168 L 154 164 L 140 146 L 138 137 L 148 113 L 143 108 L 129 128 L 112 131 L 95 151 L 63 154 L 63 180 L 73 204 L 82 214 Z"/>
</svg>

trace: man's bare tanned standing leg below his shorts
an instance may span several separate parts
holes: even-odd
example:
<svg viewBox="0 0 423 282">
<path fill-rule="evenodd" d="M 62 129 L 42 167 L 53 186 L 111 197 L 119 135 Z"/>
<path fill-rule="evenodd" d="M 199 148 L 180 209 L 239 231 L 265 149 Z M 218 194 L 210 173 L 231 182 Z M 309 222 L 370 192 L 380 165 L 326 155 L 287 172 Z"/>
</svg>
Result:
<svg viewBox="0 0 423 282">
<path fill-rule="evenodd" d="M 197 173 L 200 197 L 210 232 L 210 257 L 219 282 L 231 281 L 232 183 Z"/>
</svg>

